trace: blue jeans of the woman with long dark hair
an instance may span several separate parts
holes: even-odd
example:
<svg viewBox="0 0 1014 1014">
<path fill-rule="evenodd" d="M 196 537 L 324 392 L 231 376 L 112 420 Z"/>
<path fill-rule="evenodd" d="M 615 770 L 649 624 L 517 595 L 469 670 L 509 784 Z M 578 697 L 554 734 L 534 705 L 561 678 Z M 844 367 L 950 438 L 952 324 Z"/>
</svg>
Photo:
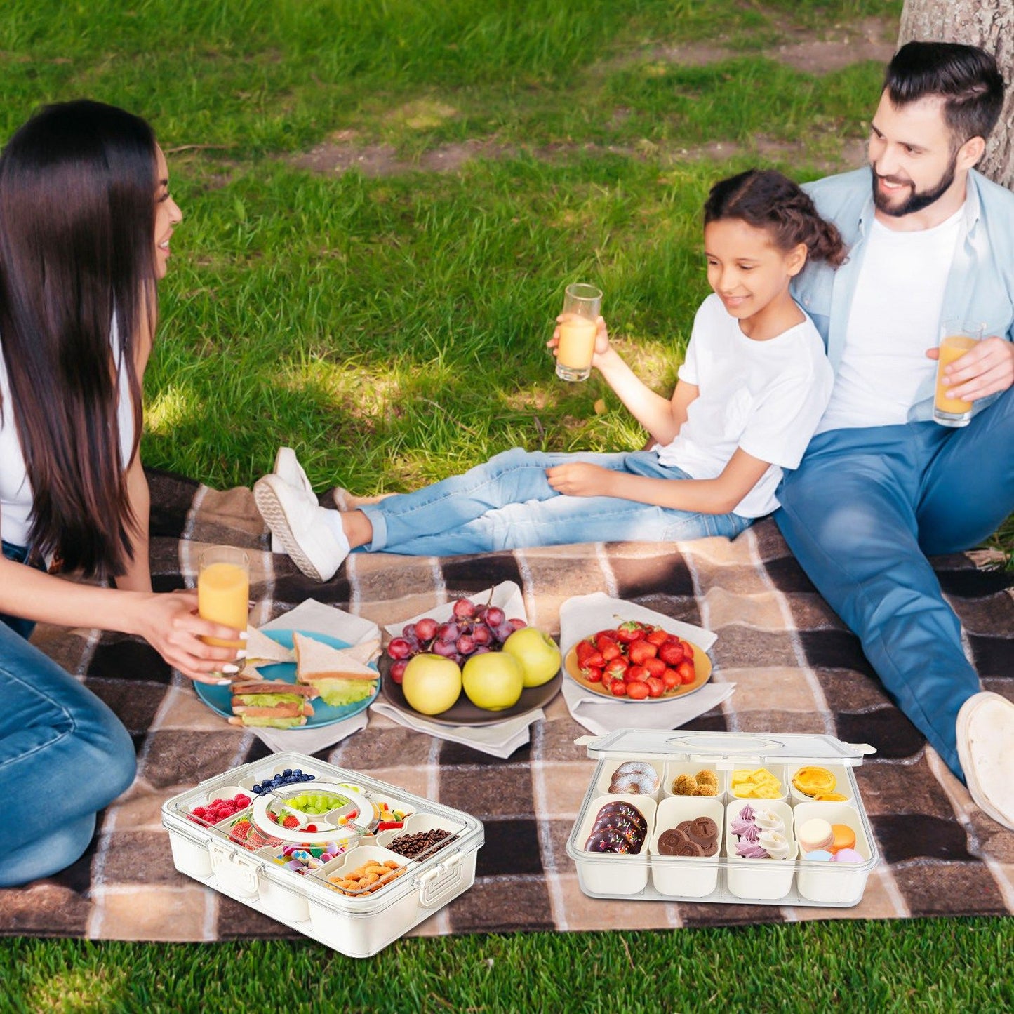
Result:
<svg viewBox="0 0 1014 1014">
<path fill-rule="evenodd" d="M 3 544 L 24 561 L 23 547 Z M 95 814 L 134 780 L 130 734 L 113 712 L 28 644 L 30 621 L 0 614 L 0 887 L 70 866 L 88 848 Z"/>
</svg>

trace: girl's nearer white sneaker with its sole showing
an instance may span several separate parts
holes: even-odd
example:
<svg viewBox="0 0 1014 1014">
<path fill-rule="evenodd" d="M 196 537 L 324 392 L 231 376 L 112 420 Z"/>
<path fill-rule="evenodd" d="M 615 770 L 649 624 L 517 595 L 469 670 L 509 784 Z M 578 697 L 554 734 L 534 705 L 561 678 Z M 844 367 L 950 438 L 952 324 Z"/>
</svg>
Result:
<svg viewBox="0 0 1014 1014">
<path fill-rule="evenodd" d="M 303 490 L 278 476 L 264 476 L 254 484 L 258 510 L 293 563 L 316 581 L 335 575 L 349 555 L 349 540 L 329 525 L 324 508 Z"/>
</svg>

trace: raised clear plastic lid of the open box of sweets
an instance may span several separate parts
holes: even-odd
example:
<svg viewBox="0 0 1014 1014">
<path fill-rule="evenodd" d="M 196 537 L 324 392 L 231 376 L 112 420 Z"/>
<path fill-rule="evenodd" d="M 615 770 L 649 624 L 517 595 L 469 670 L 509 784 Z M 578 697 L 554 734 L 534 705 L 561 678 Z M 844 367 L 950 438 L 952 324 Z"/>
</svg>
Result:
<svg viewBox="0 0 1014 1014">
<path fill-rule="evenodd" d="M 581 736 L 574 742 L 587 746 L 591 757 L 631 753 L 663 760 L 691 760 L 718 768 L 733 764 L 767 762 L 823 762 L 855 767 L 869 743 L 844 743 L 834 736 L 797 732 L 691 732 L 681 729 L 618 729 L 605 736 Z"/>
</svg>

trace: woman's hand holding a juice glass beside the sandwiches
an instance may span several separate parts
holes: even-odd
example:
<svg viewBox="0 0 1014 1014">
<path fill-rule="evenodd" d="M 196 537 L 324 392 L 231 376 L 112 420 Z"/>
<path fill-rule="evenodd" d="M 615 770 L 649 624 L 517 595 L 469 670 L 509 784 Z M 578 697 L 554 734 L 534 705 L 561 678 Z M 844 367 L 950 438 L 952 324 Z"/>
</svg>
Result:
<svg viewBox="0 0 1014 1014">
<path fill-rule="evenodd" d="M 140 594 L 132 633 L 140 634 L 169 665 L 197 682 L 226 682 L 218 673 L 227 676 L 238 671 L 234 648 L 213 647 L 200 638 L 239 641 L 241 632 L 202 620 L 197 614 L 196 591 Z"/>
</svg>

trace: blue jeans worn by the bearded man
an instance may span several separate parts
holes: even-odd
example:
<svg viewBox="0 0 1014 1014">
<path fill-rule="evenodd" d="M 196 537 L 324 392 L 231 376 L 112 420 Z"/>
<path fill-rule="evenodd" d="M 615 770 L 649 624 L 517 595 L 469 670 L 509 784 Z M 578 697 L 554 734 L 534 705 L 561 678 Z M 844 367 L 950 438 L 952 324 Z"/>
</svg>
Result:
<svg viewBox="0 0 1014 1014">
<path fill-rule="evenodd" d="M 1014 509 L 1014 388 L 963 429 L 922 422 L 822 433 L 779 499 L 775 518 L 803 570 L 963 778 L 956 719 L 979 676 L 926 558 L 975 546 Z"/>
</svg>

